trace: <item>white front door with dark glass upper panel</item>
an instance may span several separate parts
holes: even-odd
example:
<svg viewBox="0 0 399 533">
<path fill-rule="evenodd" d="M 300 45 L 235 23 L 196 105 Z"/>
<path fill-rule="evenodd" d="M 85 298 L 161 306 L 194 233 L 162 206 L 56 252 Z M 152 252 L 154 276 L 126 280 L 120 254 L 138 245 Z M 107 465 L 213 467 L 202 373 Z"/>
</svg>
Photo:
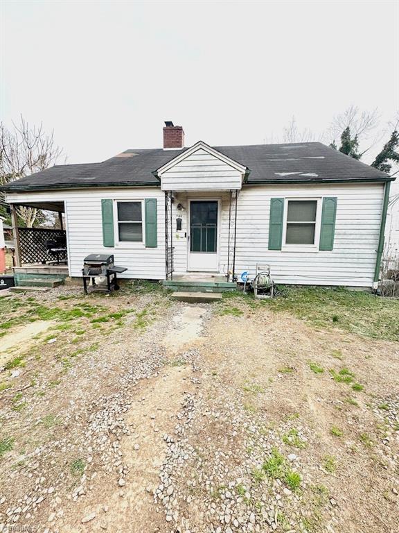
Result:
<svg viewBox="0 0 399 533">
<path fill-rule="evenodd" d="M 190 201 L 188 269 L 219 271 L 218 201 Z"/>
</svg>

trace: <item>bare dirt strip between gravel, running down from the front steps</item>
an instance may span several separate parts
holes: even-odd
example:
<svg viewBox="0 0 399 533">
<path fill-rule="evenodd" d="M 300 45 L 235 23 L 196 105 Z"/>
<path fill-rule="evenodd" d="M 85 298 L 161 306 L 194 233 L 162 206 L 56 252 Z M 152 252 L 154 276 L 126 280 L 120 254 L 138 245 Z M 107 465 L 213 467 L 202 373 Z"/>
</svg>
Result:
<svg viewBox="0 0 399 533">
<path fill-rule="evenodd" d="M 161 341 L 168 357 L 178 357 L 200 339 L 204 313 L 201 307 L 185 306 L 175 315 L 175 328 Z M 157 377 L 142 380 L 134 387 L 132 406 L 125 414 L 130 434 L 121 440 L 120 484 L 114 479 L 107 486 L 98 483 L 75 508 L 75 516 L 71 516 L 69 523 L 64 521 L 60 532 L 163 531 L 165 517 L 157 512 L 153 491 L 159 484 L 159 469 L 168 450 L 164 436 L 174 434 L 185 395 L 194 389 L 190 381 L 192 373 L 189 365 L 165 366 Z M 93 513 L 95 518 L 87 523 L 76 521 Z"/>
</svg>

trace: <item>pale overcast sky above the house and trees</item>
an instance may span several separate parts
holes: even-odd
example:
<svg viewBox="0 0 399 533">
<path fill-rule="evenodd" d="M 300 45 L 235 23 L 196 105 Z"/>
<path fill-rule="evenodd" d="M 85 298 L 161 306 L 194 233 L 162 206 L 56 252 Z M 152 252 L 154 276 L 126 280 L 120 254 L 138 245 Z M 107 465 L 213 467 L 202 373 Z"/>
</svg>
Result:
<svg viewBox="0 0 399 533">
<path fill-rule="evenodd" d="M 0 0 L 1 3 L 1 0 Z M 1 3 L 1 119 L 43 121 L 68 162 L 162 145 L 317 135 L 348 105 L 399 108 L 395 1 Z"/>
</svg>

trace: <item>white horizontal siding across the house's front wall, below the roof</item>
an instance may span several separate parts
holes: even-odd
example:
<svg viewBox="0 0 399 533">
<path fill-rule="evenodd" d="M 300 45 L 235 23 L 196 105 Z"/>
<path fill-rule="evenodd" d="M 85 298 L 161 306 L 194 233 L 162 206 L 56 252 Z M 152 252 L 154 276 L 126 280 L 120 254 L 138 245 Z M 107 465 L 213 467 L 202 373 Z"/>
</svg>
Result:
<svg viewBox="0 0 399 533">
<path fill-rule="evenodd" d="M 245 186 L 238 196 L 236 273 L 249 270 L 254 276 L 256 262 L 271 265 L 277 283 L 308 285 L 348 285 L 372 287 L 376 250 L 382 214 L 382 183 L 325 185 Z M 218 235 L 219 270 L 227 273 L 229 238 L 229 192 L 175 192 L 173 204 L 173 246 L 175 273 L 187 271 L 187 203 L 189 198 L 220 198 Z M 332 251 L 268 250 L 270 198 L 337 197 L 335 239 Z M 101 199 L 157 198 L 157 248 L 119 249 L 103 246 Z M 65 201 L 69 269 L 71 276 L 81 276 L 83 260 L 89 253 L 114 253 L 115 263 L 127 267 L 125 278 L 163 279 L 165 277 L 165 203 L 159 188 L 77 189 L 60 192 L 7 194 L 7 201 Z M 285 199 L 285 202 L 287 200 Z M 177 210 L 177 205 L 184 210 Z M 233 260 L 234 201 L 231 205 L 230 268 Z M 181 217 L 181 231 L 176 218 Z M 318 243 L 317 243 L 318 244 Z"/>
</svg>

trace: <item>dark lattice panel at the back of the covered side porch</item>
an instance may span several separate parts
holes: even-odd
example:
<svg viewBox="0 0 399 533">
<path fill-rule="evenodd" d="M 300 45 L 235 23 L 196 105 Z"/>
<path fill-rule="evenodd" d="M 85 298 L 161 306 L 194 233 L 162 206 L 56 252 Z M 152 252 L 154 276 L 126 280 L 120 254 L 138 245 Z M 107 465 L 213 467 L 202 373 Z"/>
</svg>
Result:
<svg viewBox="0 0 399 533">
<path fill-rule="evenodd" d="M 48 251 L 47 242 L 58 243 L 57 247 L 67 248 L 67 234 L 64 230 L 45 228 L 18 228 L 19 256 L 21 264 L 54 262 L 56 257 Z M 67 261 L 67 251 L 59 253 L 60 261 Z"/>
</svg>

